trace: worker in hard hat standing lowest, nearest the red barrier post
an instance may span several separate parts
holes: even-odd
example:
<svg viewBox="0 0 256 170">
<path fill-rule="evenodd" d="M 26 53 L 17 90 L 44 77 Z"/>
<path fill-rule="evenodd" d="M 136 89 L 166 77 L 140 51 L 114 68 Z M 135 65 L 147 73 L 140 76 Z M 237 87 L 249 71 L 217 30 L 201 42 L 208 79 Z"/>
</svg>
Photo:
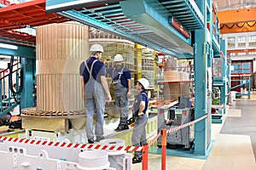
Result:
<svg viewBox="0 0 256 170">
<path fill-rule="evenodd" d="M 146 78 L 139 79 L 136 84 L 138 94 L 132 109 L 132 116 L 135 124 L 131 134 L 131 143 L 134 146 L 143 146 L 144 144 L 147 144 L 146 125 L 148 122 L 148 94 L 145 90 L 148 86 L 149 82 Z M 142 160 L 142 152 L 135 151 L 132 163 L 142 162 Z"/>
</svg>

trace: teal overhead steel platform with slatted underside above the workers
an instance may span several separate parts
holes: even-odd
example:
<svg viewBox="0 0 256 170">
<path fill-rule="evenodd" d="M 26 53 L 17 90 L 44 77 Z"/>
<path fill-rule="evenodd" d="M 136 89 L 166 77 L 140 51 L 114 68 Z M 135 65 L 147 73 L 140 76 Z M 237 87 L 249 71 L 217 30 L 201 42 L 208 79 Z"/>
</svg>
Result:
<svg viewBox="0 0 256 170">
<path fill-rule="evenodd" d="M 73 8 L 77 8 L 75 3 L 78 1 L 72 2 Z M 101 3 L 108 3 L 108 6 L 99 6 Z M 63 4 L 72 5 L 68 0 L 48 0 L 46 11 L 58 12 L 72 20 L 117 34 L 177 58 L 193 58 L 193 48 L 190 38 L 184 38 L 169 25 L 169 17 L 175 14 L 178 22 L 188 31 L 200 29 L 204 25 L 201 11 L 194 1 L 189 0 L 95 1 L 94 5 L 91 2 L 79 3 L 79 9 L 71 10 L 71 7 Z M 181 11 L 172 8 L 174 5 L 178 5 Z"/>
</svg>

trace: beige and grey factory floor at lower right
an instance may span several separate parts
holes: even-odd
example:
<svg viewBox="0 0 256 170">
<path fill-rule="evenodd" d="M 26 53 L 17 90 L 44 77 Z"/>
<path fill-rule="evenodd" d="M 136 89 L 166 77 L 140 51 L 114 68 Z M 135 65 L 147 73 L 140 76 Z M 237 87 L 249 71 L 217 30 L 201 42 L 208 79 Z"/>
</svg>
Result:
<svg viewBox="0 0 256 170">
<path fill-rule="evenodd" d="M 252 93 L 253 94 L 253 93 Z M 256 93 L 229 105 L 222 123 L 212 123 L 212 149 L 205 159 L 166 156 L 166 170 L 256 169 Z M 142 164 L 133 164 L 133 170 Z M 161 169 L 161 156 L 148 155 L 148 170 Z"/>
</svg>

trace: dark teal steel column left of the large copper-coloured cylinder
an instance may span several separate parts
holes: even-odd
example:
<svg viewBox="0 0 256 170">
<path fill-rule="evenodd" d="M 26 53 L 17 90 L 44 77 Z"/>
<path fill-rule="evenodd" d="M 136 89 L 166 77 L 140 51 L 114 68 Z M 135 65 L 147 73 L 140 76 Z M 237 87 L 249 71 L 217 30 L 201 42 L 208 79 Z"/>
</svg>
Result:
<svg viewBox="0 0 256 170">
<path fill-rule="evenodd" d="M 36 63 L 35 59 L 21 58 L 21 68 L 23 73 L 23 84 L 21 91 L 21 99 L 20 99 L 20 109 L 24 109 L 27 107 L 32 107 L 33 96 L 33 75 L 34 75 L 34 65 Z"/>
</svg>

